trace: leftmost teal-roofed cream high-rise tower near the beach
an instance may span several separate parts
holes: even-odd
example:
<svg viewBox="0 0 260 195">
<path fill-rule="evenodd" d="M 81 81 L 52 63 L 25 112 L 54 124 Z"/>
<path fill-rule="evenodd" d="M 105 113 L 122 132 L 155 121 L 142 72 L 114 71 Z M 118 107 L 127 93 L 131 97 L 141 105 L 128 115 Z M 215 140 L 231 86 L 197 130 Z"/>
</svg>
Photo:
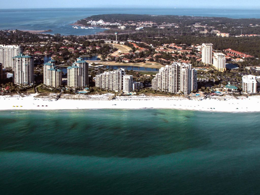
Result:
<svg viewBox="0 0 260 195">
<path fill-rule="evenodd" d="M 16 85 L 34 84 L 34 59 L 29 55 L 19 54 L 13 60 L 13 80 Z"/>
</svg>

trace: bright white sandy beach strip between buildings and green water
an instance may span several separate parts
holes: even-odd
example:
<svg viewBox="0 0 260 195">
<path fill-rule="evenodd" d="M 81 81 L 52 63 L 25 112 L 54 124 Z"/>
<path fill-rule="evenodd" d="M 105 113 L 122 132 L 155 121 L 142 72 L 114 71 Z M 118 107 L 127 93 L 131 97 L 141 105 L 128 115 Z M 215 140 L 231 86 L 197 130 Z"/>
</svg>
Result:
<svg viewBox="0 0 260 195">
<path fill-rule="evenodd" d="M 188 100 L 185 97 L 145 95 L 119 96 L 114 100 L 109 100 L 108 97 L 113 94 L 79 94 L 62 95 L 58 101 L 55 101 L 56 94 L 41 98 L 37 97 L 37 95 L 39 94 L 31 94 L 24 97 L 19 95 L 0 96 L 0 110 L 164 108 L 213 112 L 260 112 L 260 96 L 250 96 L 249 98 L 239 97 L 239 99 L 235 99 L 232 96 L 225 96 L 199 101 L 197 98 Z"/>
</svg>

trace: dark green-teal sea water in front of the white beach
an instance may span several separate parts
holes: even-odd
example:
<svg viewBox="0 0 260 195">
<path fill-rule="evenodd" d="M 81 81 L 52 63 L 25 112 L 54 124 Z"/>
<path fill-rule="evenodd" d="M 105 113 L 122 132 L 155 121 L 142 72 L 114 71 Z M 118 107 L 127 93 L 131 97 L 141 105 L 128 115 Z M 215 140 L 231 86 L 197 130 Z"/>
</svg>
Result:
<svg viewBox="0 0 260 195">
<path fill-rule="evenodd" d="M 1 194 L 260 194 L 259 113 L 0 112 Z"/>
</svg>

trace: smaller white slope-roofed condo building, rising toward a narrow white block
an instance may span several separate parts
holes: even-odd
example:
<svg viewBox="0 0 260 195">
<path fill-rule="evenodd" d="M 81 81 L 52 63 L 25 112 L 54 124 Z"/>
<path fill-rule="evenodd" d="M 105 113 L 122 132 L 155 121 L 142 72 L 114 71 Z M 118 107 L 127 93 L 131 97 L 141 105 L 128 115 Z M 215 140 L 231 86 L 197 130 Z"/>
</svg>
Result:
<svg viewBox="0 0 260 195">
<path fill-rule="evenodd" d="M 101 89 L 119 92 L 123 89 L 124 75 L 125 69 L 123 68 L 96 75 L 95 86 Z"/>
</svg>

